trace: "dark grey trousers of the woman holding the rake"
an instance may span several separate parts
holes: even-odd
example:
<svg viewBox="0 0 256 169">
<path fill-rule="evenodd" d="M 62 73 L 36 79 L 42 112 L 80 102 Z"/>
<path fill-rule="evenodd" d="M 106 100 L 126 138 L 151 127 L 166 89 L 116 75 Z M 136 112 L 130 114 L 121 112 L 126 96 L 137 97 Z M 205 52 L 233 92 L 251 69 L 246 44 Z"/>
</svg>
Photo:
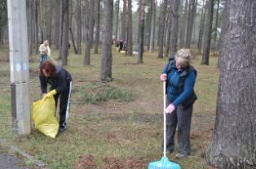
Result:
<svg viewBox="0 0 256 169">
<path fill-rule="evenodd" d="M 166 106 L 169 106 L 170 101 L 166 98 Z M 175 111 L 166 114 L 166 150 L 174 150 L 174 137 L 176 127 L 178 125 L 178 143 L 180 154 L 190 154 L 190 126 L 192 119 L 193 106 L 183 109 L 182 106 L 176 107 Z"/>
</svg>

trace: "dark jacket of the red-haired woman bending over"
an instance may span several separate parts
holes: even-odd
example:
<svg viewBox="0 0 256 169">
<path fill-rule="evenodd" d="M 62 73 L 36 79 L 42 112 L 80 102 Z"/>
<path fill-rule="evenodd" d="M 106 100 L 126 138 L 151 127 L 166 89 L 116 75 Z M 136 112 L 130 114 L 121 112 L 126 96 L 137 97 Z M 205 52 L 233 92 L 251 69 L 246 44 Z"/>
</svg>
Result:
<svg viewBox="0 0 256 169">
<path fill-rule="evenodd" d="M 60 65 L 56 67 L 56 74 L 54 77 L 47 78 L 46 76 L 40 74 L 40 85 L 42 93 L 47 93 L 47 84 L 51 85 L 51 90 L 55 89 L 57 93 L 61 93 L 66 89 L 67 83 L 72 80 L 71 75 Z"/>
</svg>

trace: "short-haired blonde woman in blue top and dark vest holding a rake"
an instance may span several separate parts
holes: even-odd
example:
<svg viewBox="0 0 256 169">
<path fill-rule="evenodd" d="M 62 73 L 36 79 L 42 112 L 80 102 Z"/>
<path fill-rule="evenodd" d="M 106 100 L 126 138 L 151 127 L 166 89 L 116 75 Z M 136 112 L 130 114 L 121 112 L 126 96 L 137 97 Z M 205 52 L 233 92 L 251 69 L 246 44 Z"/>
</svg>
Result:
<svg viewBox="0 0 256 169">
<path fill-rule="evenodd" d="M 194 85 L 196 70 L 190 65 L 192 54 L 187 49 L 179 50 L 170 58 L 162 74 L 166 80 L 166 151 L 174 151 L 174 136 L 178 125 L 179 154 L 183 158 L 190 154 L 190 126 L 193 103 L 196 101 Z"/>
</svg>

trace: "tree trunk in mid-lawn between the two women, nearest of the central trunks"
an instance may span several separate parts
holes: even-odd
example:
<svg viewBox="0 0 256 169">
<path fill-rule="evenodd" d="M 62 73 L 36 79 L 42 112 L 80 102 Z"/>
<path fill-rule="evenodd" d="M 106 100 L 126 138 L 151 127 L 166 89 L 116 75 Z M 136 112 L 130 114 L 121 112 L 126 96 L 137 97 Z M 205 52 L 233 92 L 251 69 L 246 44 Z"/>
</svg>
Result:
<svg viewBox="0 0 256 169">
<path fill-rule="evenodd" d="M 100 80 L 112 80 L 113 0 L 104 0 L 104 33 Z"/>
</svg>

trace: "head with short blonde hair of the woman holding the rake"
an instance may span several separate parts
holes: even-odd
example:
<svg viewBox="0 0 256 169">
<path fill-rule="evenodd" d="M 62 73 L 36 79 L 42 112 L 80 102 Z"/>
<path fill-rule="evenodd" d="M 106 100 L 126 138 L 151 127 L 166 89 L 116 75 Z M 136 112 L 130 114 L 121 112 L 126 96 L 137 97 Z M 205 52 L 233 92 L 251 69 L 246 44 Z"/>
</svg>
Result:
<svg viewBox="0 0 256 169">
<path fill-rule="evenodd" d="M 190 50 L 188 50 L 188 49 L 181 49 L 177 52 L 177 54 L 175 56 L 176 62 L 177 62 L 177 59 L 179 59 L 179 65 L 182 68 L 186 68 L 191 63 L 192 54 L 190 53 Z"/>
</svg>

